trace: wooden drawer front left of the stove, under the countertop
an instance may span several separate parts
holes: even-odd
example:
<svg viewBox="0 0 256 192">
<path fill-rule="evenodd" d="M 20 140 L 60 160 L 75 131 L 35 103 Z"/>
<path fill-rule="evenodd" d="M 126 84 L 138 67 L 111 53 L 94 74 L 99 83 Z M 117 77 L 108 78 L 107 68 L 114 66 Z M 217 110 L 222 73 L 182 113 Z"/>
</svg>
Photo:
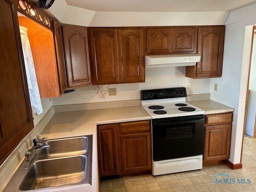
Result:
<svg viewBox="0 0 256 192">
<path fill-rule="evenodd" d="M 120 123 L 120 133 L 150 131 L 150 120 Z"/>
</svg>

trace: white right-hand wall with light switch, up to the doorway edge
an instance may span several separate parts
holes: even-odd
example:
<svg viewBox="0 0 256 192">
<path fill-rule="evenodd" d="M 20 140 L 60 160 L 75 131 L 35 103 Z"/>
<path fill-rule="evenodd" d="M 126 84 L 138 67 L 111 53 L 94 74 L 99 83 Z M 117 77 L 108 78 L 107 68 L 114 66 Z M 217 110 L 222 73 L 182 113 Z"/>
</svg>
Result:
<svg viewBox="0 0 256 192">
<path fill-rule="evenodd" d="M 226 23 L 222 78 L 210 81 L 211 99 L 235 108 L 229 159 L 233 164 L 240 163 L 255 10 L 256 4 L 253 4 L 230 13 Z M 213 90 L 214 83 L 218 84 L 217 92 Z"/>
</svg>

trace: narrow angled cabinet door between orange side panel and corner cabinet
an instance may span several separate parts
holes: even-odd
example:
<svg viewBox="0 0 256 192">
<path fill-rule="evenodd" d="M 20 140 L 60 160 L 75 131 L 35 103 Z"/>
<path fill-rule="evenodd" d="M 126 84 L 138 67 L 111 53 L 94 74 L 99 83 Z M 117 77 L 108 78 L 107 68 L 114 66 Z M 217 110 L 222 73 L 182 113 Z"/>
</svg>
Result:
<svg viewBox="0 0 256 192">
<path fill-rule="evenodd" d="M 66 67 L 65 67 L 65 61 L 64 61 L 61 25 L 54 20 L 53 20 L 53 29 L 54 29 L 54 41 L 55 41 L 55 49 L 56 49 L 56 56 L 57 56 L 60 93 L 62 94 L 67 89 Z"/>
</svg>

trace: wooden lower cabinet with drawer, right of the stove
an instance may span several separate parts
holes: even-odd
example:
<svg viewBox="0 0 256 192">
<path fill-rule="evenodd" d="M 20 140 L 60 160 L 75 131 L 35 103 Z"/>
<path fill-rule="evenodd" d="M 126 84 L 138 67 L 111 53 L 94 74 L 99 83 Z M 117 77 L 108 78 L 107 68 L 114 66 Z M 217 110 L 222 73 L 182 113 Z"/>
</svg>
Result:
<svg viewBox="0 0 256 192">
<path fill-rule="evenodd" d="M 220 163 L 229 158 L 232 112 L 206 115 L 204 165 Z"/>
</svg>

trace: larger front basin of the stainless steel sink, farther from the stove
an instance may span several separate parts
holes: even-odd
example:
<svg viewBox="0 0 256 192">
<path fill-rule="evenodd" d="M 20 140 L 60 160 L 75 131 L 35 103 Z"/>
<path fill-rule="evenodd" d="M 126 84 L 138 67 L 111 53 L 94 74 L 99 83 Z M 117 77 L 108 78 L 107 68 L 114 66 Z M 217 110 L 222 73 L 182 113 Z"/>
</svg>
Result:
<svg viewBox="0 0 256 192">
<path fill-rule="evenodd" d="M 60 185 L 89 182 L 86 156 L 56 158 L 34 162 L 22 180 L 20 190 L 32 190 Z"/>
</svg>

